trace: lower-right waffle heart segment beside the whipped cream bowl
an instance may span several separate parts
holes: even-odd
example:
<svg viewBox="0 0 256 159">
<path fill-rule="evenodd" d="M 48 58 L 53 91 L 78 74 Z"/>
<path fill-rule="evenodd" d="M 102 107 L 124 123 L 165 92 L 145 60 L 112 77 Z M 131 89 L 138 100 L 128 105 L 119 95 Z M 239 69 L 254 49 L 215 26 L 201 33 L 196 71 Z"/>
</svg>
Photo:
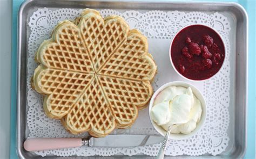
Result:
<svg viewBox="0 0 256 159">
<path fill-rule="evenodd" d="M 119 128 L 133 124 L 138 109 L 146 106 L 153 90 L 149 81 L 98 76 Z"/>
</svg>

